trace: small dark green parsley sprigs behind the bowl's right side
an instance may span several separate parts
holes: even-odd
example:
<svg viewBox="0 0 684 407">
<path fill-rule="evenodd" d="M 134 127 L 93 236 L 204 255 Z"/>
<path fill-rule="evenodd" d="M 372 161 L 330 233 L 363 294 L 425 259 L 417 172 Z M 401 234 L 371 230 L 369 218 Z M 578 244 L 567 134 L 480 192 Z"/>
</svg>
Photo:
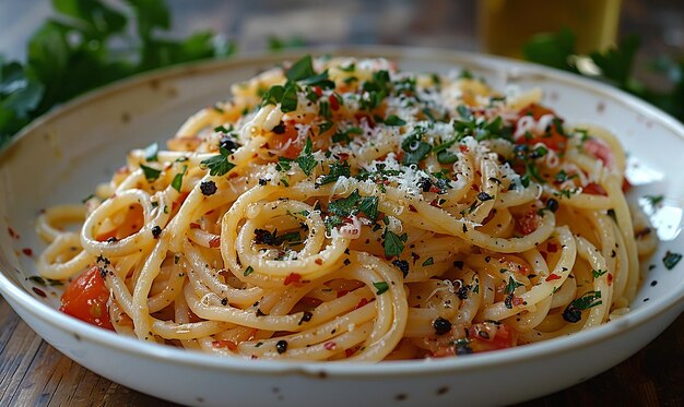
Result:
<svg viewBox="0 0 684 407">
<path fill-rule="evenodd" d="M 575 49 L 575 35 L 569 29 L 532 37 L 524 45 L 523 55 L 531 62 L 608 82 L 684 121 L 684 57 L 679 61 L 660 58 L 652 63 L 653 71 L 667 75 L 672 84 L 669 91 L 656 91 L 634 76 L 639 43 L 638 37 L 628 36 L 616 47 L 589 53 L 588 58 L 593 63 L 591 68 L 598 69 L 598 72 L 581 69 Z"/>
</svg>

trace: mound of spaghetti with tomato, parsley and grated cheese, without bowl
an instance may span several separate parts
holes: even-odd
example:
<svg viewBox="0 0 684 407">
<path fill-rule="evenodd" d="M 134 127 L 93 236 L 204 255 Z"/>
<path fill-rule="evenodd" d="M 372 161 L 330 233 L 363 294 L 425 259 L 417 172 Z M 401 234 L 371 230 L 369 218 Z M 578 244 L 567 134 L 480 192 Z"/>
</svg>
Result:
<svg viewBox="0 0 684 407">
<path fill-rule="evenodd" d="M 40 215 L 40 274 L 75 278 L 64 312 L 223 356 L 380 361 L 571 334 L 634 298 L 657 240 L 624 153 L 539 89 L 306 57 L 232 92 Z"/>
</svg>

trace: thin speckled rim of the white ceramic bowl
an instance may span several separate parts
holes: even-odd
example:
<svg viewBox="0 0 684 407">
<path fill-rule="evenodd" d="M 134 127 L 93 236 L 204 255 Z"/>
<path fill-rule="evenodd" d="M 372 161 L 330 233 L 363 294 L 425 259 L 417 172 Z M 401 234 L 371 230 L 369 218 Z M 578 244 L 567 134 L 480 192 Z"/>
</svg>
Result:
<svg viewBox="0 0 684 407">
<path fill-rule="evenodd" d="M 102 89 L 87 93 L 74 100 L 58 107 L 49 113 L 38 118 L 24 129 L 2 152 L 0 152 L 0 165 L 5 159 L 8 151 L 20 142 L 27 133 L 49 124 L 62 115 L 79 109 L 81 106 L 96 101 L 99 98 L 109 97 L 130 88 L 145 85 L 158 80 L 167 80 L 180 76 L 198 75 L 215 70 L 228 70 L 240 65 L 269 67 L 282 60 L 296 59 L 303 55 L 340 55 L 350 57 L 385 57 L 400 59 L 409 57 L 412 61 L 425 60 L 426 62 L 445 62 L 455 65 L 468 65 L 469 69 L 483 71 L 499 71 L 505 69 L 508 74 L 516 76 L 519 71 L 521 77 L 535 77 L 540 81 L 553 81 L 581 87 L 588 93 L 593 93 L 612 99 L 614 103 L 624 105 L 629 110 L 638 112 L 653 122 L 665 127 L 670 132 L 684 139 L 684 125 L 676 119 L 664 113 L 658 108 L 637 99 L 614 87 L 587 80 L 545 67 L 521 62 L 499 57 L 484 56 L 474 52 L 451 51 L 435 48 L 391 47 L 391 46 L 329 46 L 298 49 L 280 53 L 244 53 L 224 60 L 189 63 L 185 65 L 163 69 L 137 75 L 131 79 L 117 82 Z M 10 267 L 7 267 L 10 268 Z M 580 332 L 571 336 L 550 339 L 542 343 L 526 345 L 503 351 L 494 351 L 482 355 L 473 355 L 468 358 L 445 358 L 413 361 L 388 361 L 376 364 L 347 363 L 347 362 L 300 362 L 300 361 L 269 361 L 220 358 L 212 355 L 188 351 L 172 346 L 143 343 L 138 339 L 125 337 L 109 331 L 94 327 L 90 324 L 70 318 L 31 296 L 24 288 L 17 286 L 5 276 L 7 270 L 0 273 L 0 294 L 11 299 L 25 312 L 33 314 L 46 324 L 54 325 L 89 342 L 104 347 L 116 349 L 121 352 L 134 355 L 141 359 L 173 361 L 180 366 L 192 366 L 214 371 L 231 371 L 240 374 L 252 375 L 282 375 L 300 374 L 305 376 L 328 378 L 363 378 L 363 376 L 417 376 L 440 372 L 468 373 L 469 371 L 493 369 L 520 362 L 529 362 L 536 359 L 557 356 L 577 348 L 586 347 L 597 342 L 608 340 L 621 335 L 638 325 L 656 318 L 657 315 L 674 310 L 681 313 L 684 309 L 684 284 L 672 289 L 665 296 L 653 299 L 648 304 L 630 311 L 617 321 L 601 325 L 597 328 Z"/>
</svg>

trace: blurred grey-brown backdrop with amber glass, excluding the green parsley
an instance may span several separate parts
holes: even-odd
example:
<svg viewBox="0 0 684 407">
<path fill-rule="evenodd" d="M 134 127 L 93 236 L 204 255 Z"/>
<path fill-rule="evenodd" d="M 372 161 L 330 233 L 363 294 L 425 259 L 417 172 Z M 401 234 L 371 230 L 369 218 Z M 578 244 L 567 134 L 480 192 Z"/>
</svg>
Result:
<svg viewBox="0 0 684 407">
<path fill-rule="evenodd" d="M 681 0 L 168 0 L 166 4 L 173 16 L 170 35 L 211 29 L 234 40 L 238 50 L 266 50 L 269 38 L 278 37 L 311 45 L 392 44 L 481 51 L 488 44 L 502 51 L 505 47 L 492 35 L 488 43 L 484 40 L 487 33 L 503 33 L 500 43 L 500 37 L 518 39 L 563 26 L 601 45 L 610 43 L 615 29 L 618 36 L 637 34 L 644 58 L 681 55 L 684 49 Z M 49 0 L 0 1 L 0 53 L 23 59 L 26 41 L 50 15 L 55 12 Z M 594 49 L 587 48 L 591 40 L 580 43 L 585 52 Z"/>
</svg>

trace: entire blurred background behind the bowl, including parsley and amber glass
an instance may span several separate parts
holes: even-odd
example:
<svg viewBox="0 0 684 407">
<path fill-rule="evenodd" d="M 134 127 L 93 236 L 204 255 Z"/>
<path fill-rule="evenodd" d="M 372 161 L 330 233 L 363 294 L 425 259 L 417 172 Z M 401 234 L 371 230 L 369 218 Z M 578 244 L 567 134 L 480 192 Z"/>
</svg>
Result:
<svg viewBox="0 0 684 407">
<path fill-rule="evenodd" d="M 307 45 L 523 58 L 684 121 L 683 0 L 0 0 L 0 146 L 51 107 L 131 74 Z"/>
</svg>

